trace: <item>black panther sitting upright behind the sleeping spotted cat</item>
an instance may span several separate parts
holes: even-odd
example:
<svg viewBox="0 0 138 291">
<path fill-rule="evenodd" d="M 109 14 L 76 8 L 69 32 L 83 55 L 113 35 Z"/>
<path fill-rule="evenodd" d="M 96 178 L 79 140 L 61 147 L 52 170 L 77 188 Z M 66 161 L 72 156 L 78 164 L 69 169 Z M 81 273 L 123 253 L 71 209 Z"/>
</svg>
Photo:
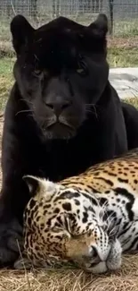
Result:
<svg viewBox="0 0 138 291">
<path fill-rule="evenodd" d="M 138 146 L 138 113 L 110 85 L 104 14 L 87 27 L 59 17 L 37 30 L 17 15 L 11 32 L 17 58 L 4 114 L 1 267 L 18 258 L 16 239 L 22 246 L 23 175 L 59 181 Z"/>
</svg>

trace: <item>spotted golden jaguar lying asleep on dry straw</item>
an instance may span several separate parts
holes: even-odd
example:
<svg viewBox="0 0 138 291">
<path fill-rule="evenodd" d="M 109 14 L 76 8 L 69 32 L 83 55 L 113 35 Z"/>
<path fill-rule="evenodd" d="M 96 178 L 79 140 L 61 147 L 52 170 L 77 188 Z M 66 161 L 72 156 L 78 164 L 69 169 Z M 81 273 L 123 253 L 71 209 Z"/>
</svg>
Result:
<svg viewBox="0 0 138 291">
<path fill-rule="evenodd" d="M 138 149 L 55 184 L 24 177 L 25 250 L 36 266 L 73 261 L 93 273 L 117 270 L 138 250 Z"/>
</svg>

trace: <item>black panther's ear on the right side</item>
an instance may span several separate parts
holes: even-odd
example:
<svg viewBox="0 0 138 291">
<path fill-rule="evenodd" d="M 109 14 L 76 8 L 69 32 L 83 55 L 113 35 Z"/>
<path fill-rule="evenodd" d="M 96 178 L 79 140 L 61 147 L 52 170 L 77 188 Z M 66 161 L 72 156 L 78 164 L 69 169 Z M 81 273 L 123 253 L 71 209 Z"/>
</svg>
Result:
<svg viewBox="0 0 138 291">
<path fill-rule="evenodd" d="M 93 31 L 93 34 L 99 36 L 101 38 L 105 38 L 109 27 L 108 27 L 108 18 L 104 13 L 98 15 L 96 21 L 93 21 L 88 29 Z"/>
</svg>

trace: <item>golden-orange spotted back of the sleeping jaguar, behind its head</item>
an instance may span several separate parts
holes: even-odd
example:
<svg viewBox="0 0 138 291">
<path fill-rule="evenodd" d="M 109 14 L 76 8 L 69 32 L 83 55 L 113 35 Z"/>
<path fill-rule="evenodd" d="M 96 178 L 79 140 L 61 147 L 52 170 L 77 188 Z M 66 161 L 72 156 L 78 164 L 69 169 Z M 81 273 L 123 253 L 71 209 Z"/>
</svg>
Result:
<svg viewBox="0 0 138 291">
<path fill-rule="evenodd" d="M 89 193 L 108 193 L 117 187 L 138 193 L 138 149 L 119 158 L 89 167 L 81 175 L 69 177 L 60 182 L 68 187 Z"/>
</svg>

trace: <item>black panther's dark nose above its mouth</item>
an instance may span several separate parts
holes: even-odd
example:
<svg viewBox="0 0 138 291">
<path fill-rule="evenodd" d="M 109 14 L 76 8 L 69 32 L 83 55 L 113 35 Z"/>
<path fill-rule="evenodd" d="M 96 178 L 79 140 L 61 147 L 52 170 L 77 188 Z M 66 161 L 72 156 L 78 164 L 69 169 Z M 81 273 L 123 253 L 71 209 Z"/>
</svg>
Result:
<svg viewBox="0 0 138 291">
<path fill-rule="evenodd" d="M 71 102 L 69 100 L 55 100 L 53 102 L 46 101 L 45 105 L 46 107 L 51 108 L 56 116 L 60 116 L 61 112 L 71 105 Z"/>
</svg>

